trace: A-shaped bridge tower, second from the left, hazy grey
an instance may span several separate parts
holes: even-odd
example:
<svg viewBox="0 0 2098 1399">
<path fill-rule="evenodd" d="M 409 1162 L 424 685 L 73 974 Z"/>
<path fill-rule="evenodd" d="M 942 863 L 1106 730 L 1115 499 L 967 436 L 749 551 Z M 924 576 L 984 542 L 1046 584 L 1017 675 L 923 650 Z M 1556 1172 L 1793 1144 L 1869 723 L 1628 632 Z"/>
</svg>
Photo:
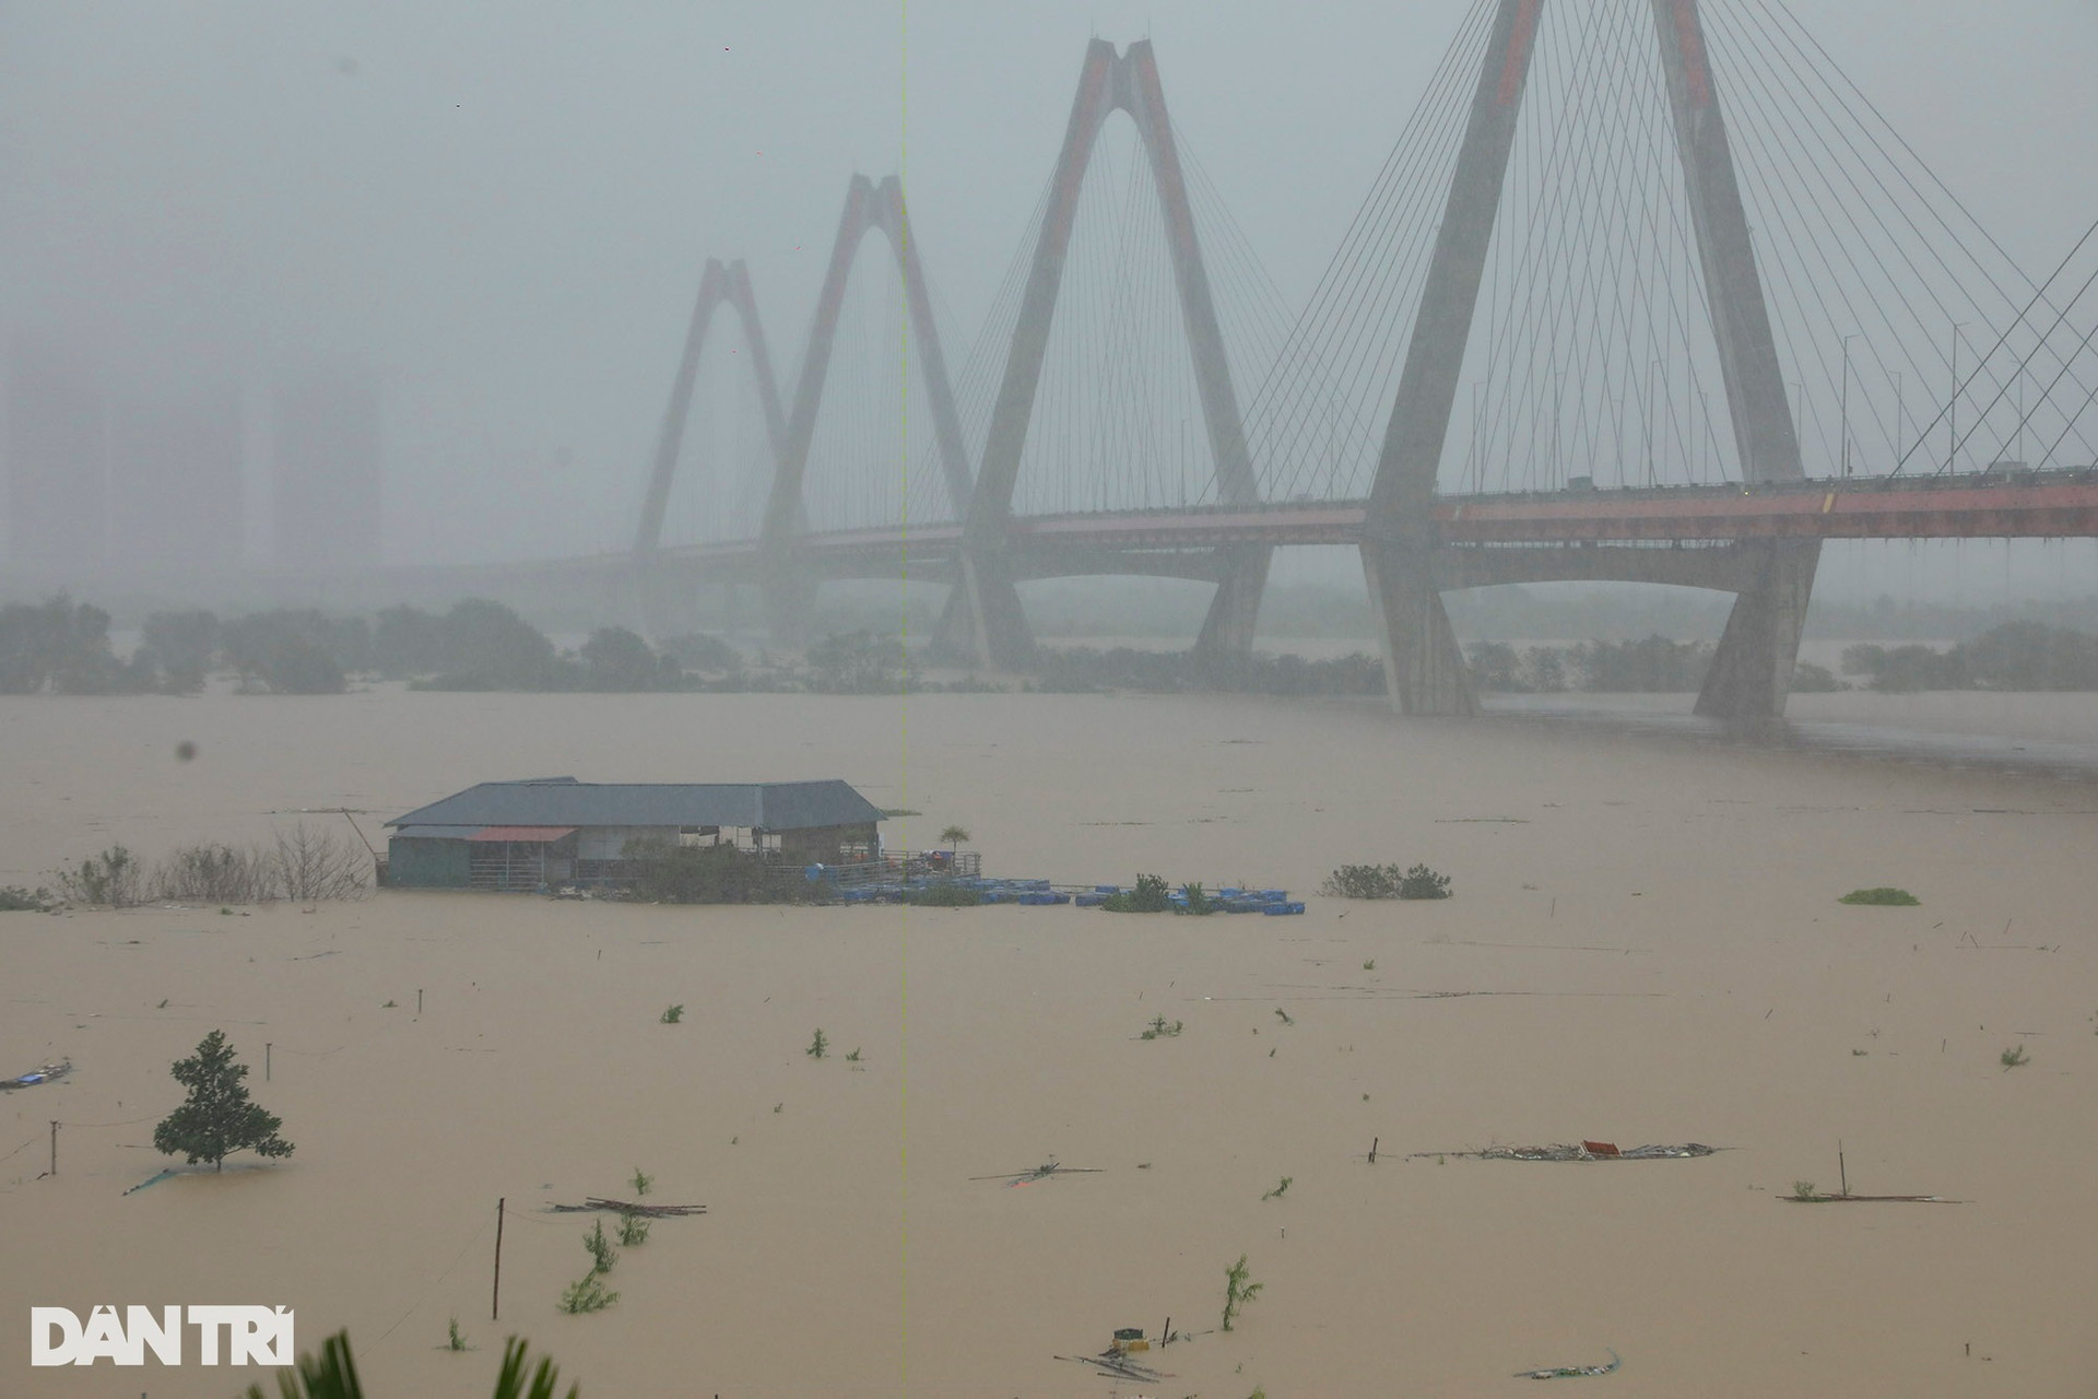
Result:
<svg viewBox="0 0 2098 1399">
<path fill-rule="evenodd" d="M 845 304 L 845 283 L 852 277 L 852 262 L 860 252 L 860 241 L 875 231 L 890 241 L 890 250 L 896 256 L 896 271 L 904 283 L 913 348 L 917 350 L 919 371 L 925 378 L 925 396 L 932 409 L 934 440 L 940 447 L 940 468 L 948 501 L 955 505 L 957 518 L 963 518 L 969 510 L 973 491 L 969 451 L 961 436 L 961 413 L 955 409 L 955 388 L 946 373 L 940 329 L 932 317 L 925 268 L 919 262 L 917 241 L 911 237 L 902 180 L 892 174 L 881 185 L 875 185 L 864 174 L 856 174 L 845 187 L 845 210 L 839 214 L 837 239 L 831 245 L 831 266 L 822 279 L 822 294 L 816 298 L 816 317 L 810 323 L 801 373 L 795 380 L 793 413 L 780 438 L 778 470 L 772 476 L 772 493 L 766 501 L 764 531 L 759 535 L 766 617 L 772 633 L 780 640 L 799 640 L 804 636 L 808 608 L 814 600 L 814 577 L 795 566 L 793 550 L 795 535 L 801 533 L 806 520 L 801 482 L 808 474 L 810 445 L 816 438 L 816 409 L 822 405 L 822 384 L 831 369 L 831 348 L 837 342 L 837 319 Z M 900 558 L 898 573 L 902 573 Z"/>
</svg>

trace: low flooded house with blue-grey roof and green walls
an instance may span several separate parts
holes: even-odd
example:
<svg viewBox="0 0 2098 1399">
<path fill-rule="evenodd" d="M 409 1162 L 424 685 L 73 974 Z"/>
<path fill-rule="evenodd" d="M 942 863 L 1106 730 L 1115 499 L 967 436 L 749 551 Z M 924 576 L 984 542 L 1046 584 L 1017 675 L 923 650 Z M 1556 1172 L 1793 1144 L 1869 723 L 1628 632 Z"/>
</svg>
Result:
<svg viewBox="0 0 2098 1399">
<path fill-rule="evenodd" d="M 736 845 L 785 864 L 881 854 L 881 810 L 827 782 L 480 782 L 386 822 L 397 889 L 543 889 L 634 877 L 631 841 Z"/>
</svg>

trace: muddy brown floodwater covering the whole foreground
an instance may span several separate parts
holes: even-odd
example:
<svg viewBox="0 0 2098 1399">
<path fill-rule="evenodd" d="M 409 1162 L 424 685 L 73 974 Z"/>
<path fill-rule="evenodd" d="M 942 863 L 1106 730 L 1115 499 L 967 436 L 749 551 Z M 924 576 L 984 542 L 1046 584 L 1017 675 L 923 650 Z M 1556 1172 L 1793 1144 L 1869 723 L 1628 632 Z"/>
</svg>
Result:
<svg viewBox="0 0 2098 1399">
<path fill-rule="evenodd" d="M 2039 1395 L 2098 1361 L 2077 776 L 1192 696 L 4 698 L 0 753 L 0 883 L 575 774 L 839 776 L 923 812 L 892 845 L 959 822 L 1005 875 L 1313 891 L 1418 860 L 1456 889 L 1297 919 L 409 891 L 0 914 L 0 1076 L 76 1066 L 0 1095 L 10 1399 L 258 1378 L 193 1347 L 31 1370 L 25 1311 L 97 1303 L 290 1305 L 302 1347 L 350 1330 L 376 1399 L 485 1395 L 512 1332 L 598 1399 L 1494 1395 L 1611 1351 L 1569 1382 Z M 1861 885 L 1922 906 L 1836 902 Z M 1154 1015 L 1183 1032 L 1139 1038 Z M 212 1028 L 296 1156 L 126 1193 Z M 1408 1160 L 1582 1139 L 1725 1149 Z M 1850 1189 L 1964 1204 L 1781 1202 L 1836 1189 L 1838 1141 Z M 971 1181 L 1049 1160 L 1097 1175 Z M 636 1166 L 707 1212 L 562 1315 L 585 1217 L 548 1206 Z M 1240 1254 L 1265 1286 L 1223 1334 Z M 443 1349 L 451 1317 L 476 1351 Z M 1166 1317 L 1194 1338 L 1150 1353 L 1158 1384 L 1055 1359 Z"/>
</svg>

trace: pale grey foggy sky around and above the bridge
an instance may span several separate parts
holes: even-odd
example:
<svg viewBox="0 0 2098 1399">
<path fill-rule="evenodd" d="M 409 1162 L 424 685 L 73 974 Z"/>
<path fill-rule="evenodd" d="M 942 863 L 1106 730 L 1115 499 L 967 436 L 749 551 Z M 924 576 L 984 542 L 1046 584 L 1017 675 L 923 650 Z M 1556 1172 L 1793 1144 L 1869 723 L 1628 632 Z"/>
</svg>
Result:
<svg viewBox="0 0 2098 1399">
<path fill-rule="evenodd" d="M 170 390 L 371 361 L 390 560 L 623 547 L 705 258 L 791 382 L 848 176 L 904 168 L 965 348 L 1087 38 L 1150 36 L 1299 304 L 1464 8 L 8 0 L 0 317 Z M 2035 279 L 2098 216 L 2098 4 L 1794 10 Z"/>
</svg>

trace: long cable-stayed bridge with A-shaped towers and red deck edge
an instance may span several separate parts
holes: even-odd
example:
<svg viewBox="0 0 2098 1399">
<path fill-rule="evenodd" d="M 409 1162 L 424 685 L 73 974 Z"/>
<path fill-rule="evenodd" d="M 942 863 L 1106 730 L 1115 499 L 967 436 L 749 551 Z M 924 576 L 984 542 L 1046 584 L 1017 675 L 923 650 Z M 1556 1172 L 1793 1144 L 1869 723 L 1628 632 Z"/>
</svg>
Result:
<svg viewBox="0 0 2098 1399">
<path fill-rule="evenodd" d="M 944 581 L 938 648 L 1024 669 L 1028 579 L 1211 581 L 1215 654 L 1276 547 L 1347 545 L 1408 713 L 1475 709 L 1446 589 L 1674 583 L 1735 594 L 1699 713 L 1773 715 L 1823 539 L 2098 535 L 2094 283 L 2090 235 L 2022 273 L 1781 0 L 1475 0 L 1288 308 L 1150 42 L 1093 40 L 963 359 L 856 176 L 791 394 L 709 262 L 634 552 L 575 562 L 787 638 L 820 579 Z"/>
</svg>

